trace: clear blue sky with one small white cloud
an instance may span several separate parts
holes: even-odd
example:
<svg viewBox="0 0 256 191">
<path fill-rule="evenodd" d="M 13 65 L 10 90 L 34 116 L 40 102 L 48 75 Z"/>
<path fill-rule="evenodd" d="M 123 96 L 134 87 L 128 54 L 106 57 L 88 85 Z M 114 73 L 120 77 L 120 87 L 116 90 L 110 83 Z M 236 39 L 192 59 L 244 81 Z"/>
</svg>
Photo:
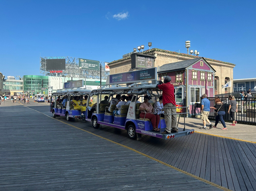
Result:
<svg viewBox="0 0 256 191">
<path fill-rule="evenodd" d="M 40 55 L 103 62 L 134 47 L 236 64 L 234 79 L 254 78 L 256 1 L 0 1 L 0 72 L 40 74 Z"/>
</svg>

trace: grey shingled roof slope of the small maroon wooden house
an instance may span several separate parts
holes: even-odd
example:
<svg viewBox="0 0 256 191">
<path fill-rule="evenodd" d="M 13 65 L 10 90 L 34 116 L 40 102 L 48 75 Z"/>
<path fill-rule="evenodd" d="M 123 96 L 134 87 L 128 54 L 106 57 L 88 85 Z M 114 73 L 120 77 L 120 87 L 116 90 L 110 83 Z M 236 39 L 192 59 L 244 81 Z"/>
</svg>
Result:
<svg viewBox="0 0 256 191">
<path fill-rule="evenodd" d="M 198 62 L 202 58 L 203 57 L 199 57 L 199 58 L 184 60 L 184 61 L 180 61 L 180 62 L 173 62 L 173 63 L 169 63 L 169 64 L 164 64 L 164 65 L 160 66 L 158 72 L 176 70 L 176 69 L 185 69 L 185 68 L 189 67 L 190 65 Z"/>
</svg>

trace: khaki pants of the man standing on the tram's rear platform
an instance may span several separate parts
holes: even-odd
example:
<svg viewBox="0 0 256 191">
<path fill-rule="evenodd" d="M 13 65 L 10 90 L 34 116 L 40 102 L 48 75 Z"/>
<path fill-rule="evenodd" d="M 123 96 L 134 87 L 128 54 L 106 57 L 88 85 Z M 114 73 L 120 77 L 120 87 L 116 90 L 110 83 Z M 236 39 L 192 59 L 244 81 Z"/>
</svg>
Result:
<svg viewBox="0 0 256 191">
<path fill-rule="evenodd" d="M 173 105 L 172 103 L 166 103 L 164 105 L 164 114 L 174 114 L 175 115 L 164 115 L 164 120 L 166 124 L 165 130 L 167 132 L 171 132 L 171 129 L 178 129 L 177 127 L 177 115 L 176 115 L 176 105 Z M 172 108 L 172 109 L 170 109 Z"/>
</svg>

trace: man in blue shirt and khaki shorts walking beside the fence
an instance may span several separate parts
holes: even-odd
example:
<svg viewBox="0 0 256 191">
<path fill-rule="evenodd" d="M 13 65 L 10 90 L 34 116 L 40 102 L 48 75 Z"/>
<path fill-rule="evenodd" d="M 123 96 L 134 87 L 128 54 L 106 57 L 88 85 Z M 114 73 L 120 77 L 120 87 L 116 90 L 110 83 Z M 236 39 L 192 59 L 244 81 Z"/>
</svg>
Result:
<svg viewBox="0 0 256 191">
<path fill-rule="evenodd" d="M 203 120 L 203 127 L 200 127 L 200 129 L 207 130 L 206 128 L 206 122 L 209 123 L 211 129 L 213 127 L 213 124 L 208 120 L 208 116 L 210 113 L 210 101 L 207 99 L 207 95 L 204 93 L 202 94 L 202 100 L 201 100 L 201 115 L 200 119 Z"/>
</svg>

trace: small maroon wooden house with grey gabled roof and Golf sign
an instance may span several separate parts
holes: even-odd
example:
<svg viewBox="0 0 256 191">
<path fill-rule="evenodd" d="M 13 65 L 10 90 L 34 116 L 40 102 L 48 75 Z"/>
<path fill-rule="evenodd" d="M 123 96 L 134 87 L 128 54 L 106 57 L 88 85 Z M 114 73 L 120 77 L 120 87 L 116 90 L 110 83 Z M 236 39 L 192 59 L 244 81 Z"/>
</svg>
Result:
<svg viewBox="0 0 256 191">
<path fill-rule="evenodd" d="M 164 64 L 157 73 L 162 81 L 163 76 L 172 77 L 171 83 L 177 87 L 176 104 L 189 106 L 187 117 L 191 117 L 194 115 L 194 104 L 200 103 L 202 94 L 214 97 L 215 72 L 203 57 L 199 57 Z M 196 115 L 200 115 L 200 108 L 196 108 Z"/>
</svg>

